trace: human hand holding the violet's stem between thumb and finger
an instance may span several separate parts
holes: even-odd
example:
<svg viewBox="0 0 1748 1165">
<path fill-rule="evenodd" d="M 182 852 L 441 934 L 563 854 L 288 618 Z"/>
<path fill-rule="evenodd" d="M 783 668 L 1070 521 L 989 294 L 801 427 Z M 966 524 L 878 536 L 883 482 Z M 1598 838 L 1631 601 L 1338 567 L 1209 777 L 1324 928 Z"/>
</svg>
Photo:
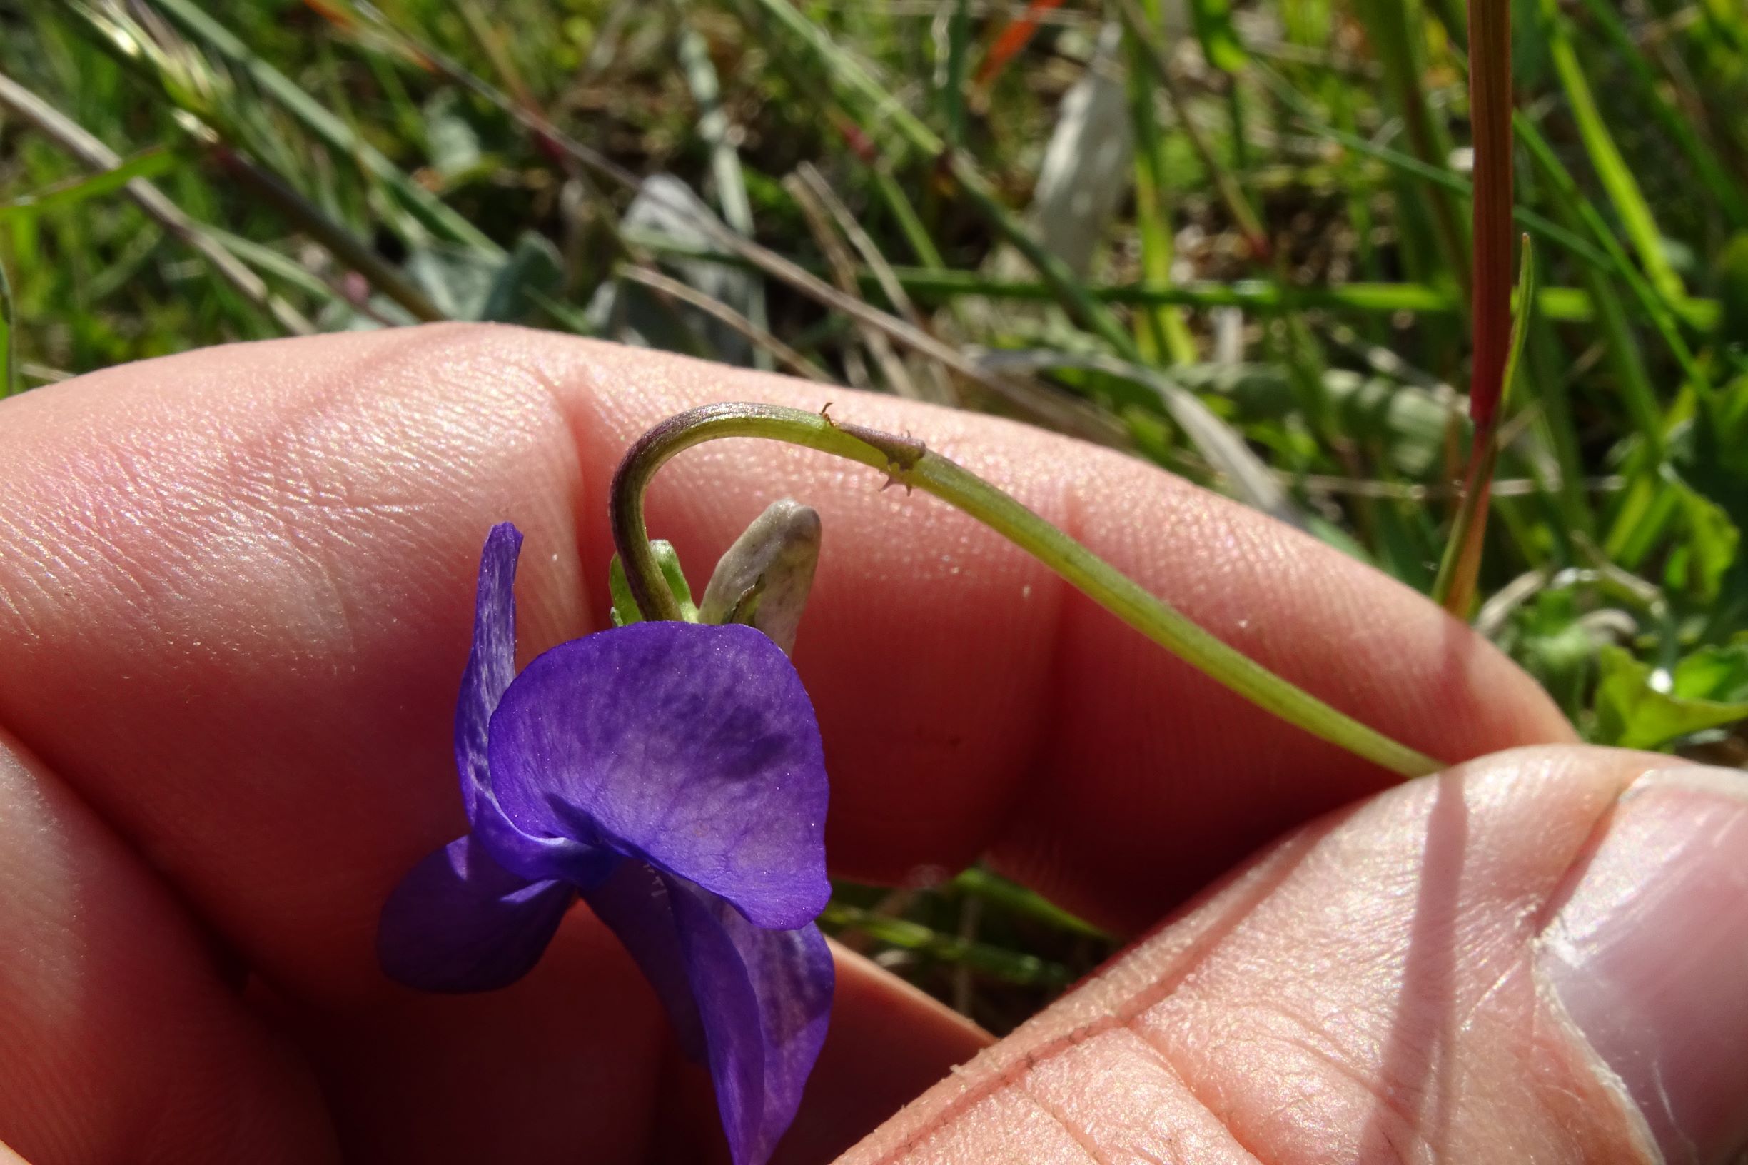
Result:
<svg viewBox="0 0 1748 1165">
<path fill-rule="evenodd" d="M 825 518 L 795 661 L 834 873 L 982 854 L 1138 932 L 1297 827 L 853 1160 L 1654 1160 L 1552 990 L 1671 1160 L 1748 1137 L 1748 805 L 1722 778 L 1633 785 L 1666 759 L 1571 747 L 1523 673 L 1421 598 L 1133 460 L 650 353 L 420 329 L 0 406 L 0 1142 L 35 1165 L 710 1151 L 706 1081 L 586 910 L 491 995 L 406 992 L 372 953 L 388 890 L 461 831 L 449 715 L 484 530 L 530 539 L 523 658 L 603 626 L 607 478 L 710 399 L 836 399 L 911 429 L 1423 752 L 1556 745 L 1318 819 L 1388 778 L 988 530 L 804 451 L 683 457 L 650 523 L 694 570 L 774 497 Z M 841 955 L 780 1156 L 846 1148 L 982 1043 Z"/>
</svg>

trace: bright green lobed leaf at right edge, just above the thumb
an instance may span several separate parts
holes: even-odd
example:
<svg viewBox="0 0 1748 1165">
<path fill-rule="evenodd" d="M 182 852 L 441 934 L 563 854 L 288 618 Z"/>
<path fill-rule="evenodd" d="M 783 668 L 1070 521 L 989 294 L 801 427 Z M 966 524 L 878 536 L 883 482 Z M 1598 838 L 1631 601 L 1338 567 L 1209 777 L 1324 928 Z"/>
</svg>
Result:
<svg viewBox="0 0 1748 1165">
<path fill-rule="evenodd" d="M 1666 691 L 1655 672 L 1627 651 L 1606 645 L 1598 665 L 1598 743 L 1620 749 L 1666 749 L 1682 736 L 1748 719 L 1748 645 L 1704 647 L 1668 677 Z"/>
</svg>

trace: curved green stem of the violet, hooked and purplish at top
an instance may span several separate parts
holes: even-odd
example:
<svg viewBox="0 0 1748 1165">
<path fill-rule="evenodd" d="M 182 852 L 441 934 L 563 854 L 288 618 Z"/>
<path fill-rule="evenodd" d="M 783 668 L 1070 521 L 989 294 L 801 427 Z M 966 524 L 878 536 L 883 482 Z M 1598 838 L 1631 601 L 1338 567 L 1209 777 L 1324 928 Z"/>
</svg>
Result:
<svg viewBox="0 0 1748 1165">
<path fill-rule="evenodd" d="M 718 437 L 764 437 L 801 444 L 879 469 L 891 485 L 933 493 L 1033 555 L 1141 635 L 1283 721 L 1402 777 L 1421 777 L 1444 768 L 1342 715 L 1220 642 L 1007 493 L 939 453 L 930 453 L 921 441 L 844 425 L 823 413 L 773 404 L 708 404 L 669 416 L 631 446 L 614 474 L 614 542 L 619 546 L 631 595 L 649 617 L 678 619 L 680 610 L 650 551 L 643 528 L 643 492 L 668 458 Z"/>
</svg>

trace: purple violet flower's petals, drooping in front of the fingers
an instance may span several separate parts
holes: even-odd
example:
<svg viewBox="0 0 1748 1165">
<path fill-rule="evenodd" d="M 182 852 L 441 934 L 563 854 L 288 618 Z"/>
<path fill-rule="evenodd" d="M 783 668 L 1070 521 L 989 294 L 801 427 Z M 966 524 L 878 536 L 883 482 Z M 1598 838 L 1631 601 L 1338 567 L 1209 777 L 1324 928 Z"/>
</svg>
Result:
<svg viewBox="0 0 1748 1165">
<path fill-rule="evenodd" d="M 378 957 L 432 992 L 505 987 L 580 894 L 710 1065 L 736 1165 L 764 1165 L 825 1039 L 825 763 L 813 705 L 750 626 L 635 623 L 516 673 L 516 558 L 479 558 L 454 754 L 472 829 L 400 882 Z"/>
</svg>

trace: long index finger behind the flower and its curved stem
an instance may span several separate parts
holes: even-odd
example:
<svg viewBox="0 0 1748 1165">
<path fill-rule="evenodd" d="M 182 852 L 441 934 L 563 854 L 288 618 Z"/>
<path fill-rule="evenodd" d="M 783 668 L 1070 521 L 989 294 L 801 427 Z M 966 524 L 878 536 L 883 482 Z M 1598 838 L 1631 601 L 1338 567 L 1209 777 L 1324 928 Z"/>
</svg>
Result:
<svg viewBox="0 0 1748 1165">
<path fill-rule="evenodd" d="M 1035 430 L 834 395 L 846 416 L 926 434 L 1426 752 L 1566 733 L 1465 628 L 1250 511 Z M 447 721 L 482 532 L 512 518 L 528 534 L 524 658 L 598 626 L 612 464 L 711 397 L 823 402 L 510 329 L 252 345 L 9 401 L 0 722 L 255 966 L 299 990 L 374 988 L 383 897 L 463 826 Z M 988 530 L 820 455 L 711 446 L 664 472 L 650 513 L 701 572 L 781 493 L 825 516 L 797 658 L 846 873 L 898 878 L 993 847 L 1138 924 L 1259 836 L 1383 782 Z"/>
</svg>

